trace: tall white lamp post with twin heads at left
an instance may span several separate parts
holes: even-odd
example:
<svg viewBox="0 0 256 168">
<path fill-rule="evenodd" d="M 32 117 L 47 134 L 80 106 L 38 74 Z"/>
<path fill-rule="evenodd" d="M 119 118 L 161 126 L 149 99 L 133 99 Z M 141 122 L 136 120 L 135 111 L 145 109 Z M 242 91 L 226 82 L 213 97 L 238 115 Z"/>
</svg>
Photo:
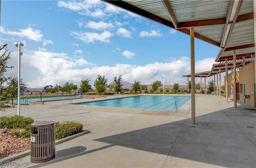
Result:
<svg viewBox="0 0 256 168">
<path fill-rule="evenodd" d="M 20 115 L 20 56 L 22 55 L 20 46 L 24 46 L 24 44 L 19 42 L 19 44 L 14 43 L 14 45 L 18 47 L 18 115 Z"/>
</svg>

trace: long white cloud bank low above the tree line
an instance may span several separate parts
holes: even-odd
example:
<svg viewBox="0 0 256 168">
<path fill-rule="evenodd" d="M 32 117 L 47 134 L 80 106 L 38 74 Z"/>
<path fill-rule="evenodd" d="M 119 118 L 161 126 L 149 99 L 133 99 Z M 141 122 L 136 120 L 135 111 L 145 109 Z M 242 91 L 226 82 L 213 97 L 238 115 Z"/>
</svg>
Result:
<svg viewBox="0 0 256 168">
<path fill-rule="evenodd" d="M 116 64 L 112 67 L 99 67 L 87 62 L 84 58 L 74 59 L 65 53 L 29 50 L 23 50 L 23 52 L 21 76 L 32 88 L 44 87 L 49 84 L 63 85 L 66 82 L 79 85 L 82 78 L 88 78 L 93 84 L 98 74 L 105 75 L 108 82 L 112 82 L 114 76 L 121 74 L 123 80 L 130 83 L 134 83 L 134 80 L 136 80 L 140 81 L 141 84 L 151 84 L 156 80 L 162 81 L 162 77 L 164 77 L 166 85 L 186 84 L 187 78 L 181 76 L 190 74 L 190 58 L 188 57 L 180 57 L 170 62 L 155 62 L 144 66 Z M 14 67 L 17 67 L 17 55 L 17 52 L 14 52 L 10 59 L 10 64 Z M 205 58 L 196 62 L 196 72 L 210 70 L 212 61 L 214 61 L 214 58 Z M 200 68 L 202 66 L 203 68 Z M 33 73 L 33 75 L 31 76 L 27 72 Z M 36 72 L 39 72 L 39 74 L 36 74 Z M 17 69 L 8 73 L 16 75 Z M 222 78 L 224 78 L 223 75 Z"/>
</svg>

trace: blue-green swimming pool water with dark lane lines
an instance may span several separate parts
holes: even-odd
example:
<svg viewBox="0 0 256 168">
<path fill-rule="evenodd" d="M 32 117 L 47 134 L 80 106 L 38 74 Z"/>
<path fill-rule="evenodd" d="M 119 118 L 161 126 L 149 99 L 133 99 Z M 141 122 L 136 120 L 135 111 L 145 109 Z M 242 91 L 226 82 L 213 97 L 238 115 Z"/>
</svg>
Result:
<svg viewBox="0 0 256 168">
<path fill-rule="evenodd" d="M 174 110 L 174 101 L 180 109 L 187 101 L 186 96 L 132 96 L 126 98 L 115 98 L 93 102 L 77 103 L 86 106 L 108 106 L 124 108 L 142 108 L 157 110 Z"/>
</svg>

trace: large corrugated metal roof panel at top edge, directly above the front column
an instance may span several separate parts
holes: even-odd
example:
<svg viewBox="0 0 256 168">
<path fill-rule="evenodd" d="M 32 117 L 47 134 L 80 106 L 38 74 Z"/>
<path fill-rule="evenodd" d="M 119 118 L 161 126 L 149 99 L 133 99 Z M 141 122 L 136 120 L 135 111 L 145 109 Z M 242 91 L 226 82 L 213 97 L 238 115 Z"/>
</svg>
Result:
<svg viewBox="0 0 256 168">
<path fill-rule="evenodd" d="M 169 1 L 177 22 L 224 18 L 227 15 L 229 0 L 172 0 Z"/>
</svg>

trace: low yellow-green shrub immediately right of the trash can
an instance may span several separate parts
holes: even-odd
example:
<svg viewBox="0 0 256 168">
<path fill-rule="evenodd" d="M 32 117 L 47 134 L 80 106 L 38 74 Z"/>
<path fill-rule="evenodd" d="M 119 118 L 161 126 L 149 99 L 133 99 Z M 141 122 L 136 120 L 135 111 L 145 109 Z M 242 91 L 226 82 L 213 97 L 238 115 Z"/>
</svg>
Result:
<svg viewBox="0 0 256 168">
<path fill-rule="evenodd" d="M 78 122 L 56 122 L 56 140 L 83 131 L 83 125 Z"/>
</svg>

